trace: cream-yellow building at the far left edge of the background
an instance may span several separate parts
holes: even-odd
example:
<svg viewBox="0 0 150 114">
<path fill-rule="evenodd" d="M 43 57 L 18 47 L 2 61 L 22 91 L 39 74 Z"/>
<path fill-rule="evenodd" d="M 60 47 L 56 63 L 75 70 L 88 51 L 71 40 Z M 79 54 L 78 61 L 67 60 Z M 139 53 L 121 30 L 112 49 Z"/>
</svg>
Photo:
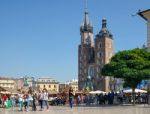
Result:
<svg viewBox="0 0 150 114">
<path fill-rule="evenodd" d="M 7 88 L 15 88 L 15 80 L 11 78 L 0 78 L 0 86 Z"/>
</svg>

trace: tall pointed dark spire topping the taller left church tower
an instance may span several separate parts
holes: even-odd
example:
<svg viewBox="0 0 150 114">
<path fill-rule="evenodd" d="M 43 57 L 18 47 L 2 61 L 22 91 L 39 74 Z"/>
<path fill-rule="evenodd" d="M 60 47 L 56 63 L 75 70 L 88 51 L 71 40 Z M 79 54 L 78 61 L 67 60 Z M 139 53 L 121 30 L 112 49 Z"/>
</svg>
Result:
<svg viewBox="0 0 150 114">
<path fill-rule="evenodd" d="M 92 32 L 93 33 L 93 26 L 92 26 L 92 24 L 90 22 L 90 19 L 89 19 L 89 13 L 88 13 L 88 8 L 87 8 L 87 0 L 85 0 L 84 21 L 81 24 L 80 31 L 81 32 L 87 31 L 87 32 Z"/>
</svg>

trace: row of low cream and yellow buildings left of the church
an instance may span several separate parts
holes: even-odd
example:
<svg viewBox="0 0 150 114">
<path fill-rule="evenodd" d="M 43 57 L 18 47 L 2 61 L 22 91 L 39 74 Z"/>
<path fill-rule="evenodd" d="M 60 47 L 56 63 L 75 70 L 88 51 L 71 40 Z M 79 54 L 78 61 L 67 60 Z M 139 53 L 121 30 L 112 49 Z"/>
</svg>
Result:
<svg viewBox="0 0 150 114">
<path fill-rule="evenodd" d="M 78 80 L 71 80 L 65 83 L 59 83 L 57 80 L 52 78 L 38 78 L 34 77 L 23 77 L 23 78 L 6 78 L 0 77 L 0 87 L 11 88 L 11 89 L 27 89 L 32 87 L 34 89 L 47 89 L 48 91 L 61 92 L 72 87 L 74 91 L 78 91 Z M 62 89 L 63 88 L 63 89 Z"/>
</svg>

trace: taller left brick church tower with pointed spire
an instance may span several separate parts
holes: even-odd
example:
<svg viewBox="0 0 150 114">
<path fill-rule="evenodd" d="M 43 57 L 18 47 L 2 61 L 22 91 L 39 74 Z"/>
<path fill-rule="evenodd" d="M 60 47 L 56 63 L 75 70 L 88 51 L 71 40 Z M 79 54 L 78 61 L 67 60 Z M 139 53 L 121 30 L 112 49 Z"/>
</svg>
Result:
<svg viewBox="0 0 150 114">
<path fill-rule="evenodd" d="M 94 39 L 93 26 L 89 19 L 87 9 L 84 13 L 84 20 L 80 26 L 81 43 L 78 47 L 78 81 L 79 90 L 83 90 L 85 81 L 89 75 L 89 65 L 94 63 Z"/>
</svg>

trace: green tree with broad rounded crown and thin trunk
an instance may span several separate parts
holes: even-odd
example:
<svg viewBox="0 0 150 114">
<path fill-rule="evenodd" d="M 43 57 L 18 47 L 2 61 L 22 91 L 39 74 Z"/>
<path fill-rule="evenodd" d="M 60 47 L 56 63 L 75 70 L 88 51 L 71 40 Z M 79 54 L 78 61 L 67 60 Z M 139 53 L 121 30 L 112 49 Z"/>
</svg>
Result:
<svg viewBox="0 0 150 114">
<path fill-rule="evenodd" d="M 103 66 L 101 73 L 124 79 L 124 84 L 132 88 L 135 105 L 135 88 L 143 79 L 150 79 L 150 53 L 138 48 L 120 51 Z"/>
</svg>

